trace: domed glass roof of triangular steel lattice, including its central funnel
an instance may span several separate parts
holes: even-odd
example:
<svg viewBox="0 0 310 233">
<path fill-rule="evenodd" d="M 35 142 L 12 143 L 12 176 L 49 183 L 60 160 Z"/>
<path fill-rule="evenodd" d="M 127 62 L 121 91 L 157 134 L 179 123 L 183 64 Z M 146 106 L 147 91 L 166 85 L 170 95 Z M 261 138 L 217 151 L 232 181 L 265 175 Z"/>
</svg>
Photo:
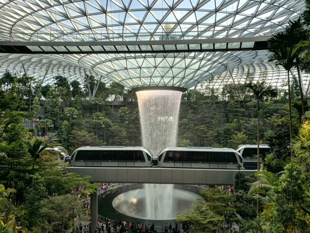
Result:
<svg viewBox="0 0 310 233">
<path fill-rule="evenodd" d="M 263 36 L 283 30 L 288 20 L 300 16 L 303 7 L 303 0 L 0 0 L 0 40 L 168 41 Z M 228 70 L 237 74 L 240 67 L 267 64 L 255 62 L 266 59 L 266 51 L 125 54 L 122 49 L 129 48 L 117 47 L 115 54 L 1 54 L 0 70 L 27 71 L 38 80 L 44 76 L 43 85 L 52 83 L 55 75 L 82 83 L 85 74 L 93 74 L 128 88 L 191 88 Z M 273 83 L 283 79 L 281 72 L 273 73 Z"/>
</svg>

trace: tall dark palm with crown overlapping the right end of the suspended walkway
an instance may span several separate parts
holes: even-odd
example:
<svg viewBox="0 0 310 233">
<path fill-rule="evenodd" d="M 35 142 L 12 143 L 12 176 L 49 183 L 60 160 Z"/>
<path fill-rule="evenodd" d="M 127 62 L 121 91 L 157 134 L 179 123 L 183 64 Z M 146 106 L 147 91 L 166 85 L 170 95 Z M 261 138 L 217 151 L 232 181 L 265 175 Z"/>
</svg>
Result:
<svg viewBox="0 0 310 233">
<path fill-rule="evenodd" d="M 290 142 L 293 140 L 292 131 L 292 106 L 290 95 L 290 69 L 294 66 L 295 56 L 293 54 L 293 48 L 289 44 L 283 43 L 282 39 L 287 35 L 286 32 L 276 32 L 268 39 L 268 51 L 271 54 L 268 56 L 268 62 L 274 61 L 276 65 L 281 65 L 287 71 L 287 84 L 289 92 L 289 116 L 290 116 Z M 291 149 L 291 157 L 294 158 L 293 150 Z"/>
</svg>

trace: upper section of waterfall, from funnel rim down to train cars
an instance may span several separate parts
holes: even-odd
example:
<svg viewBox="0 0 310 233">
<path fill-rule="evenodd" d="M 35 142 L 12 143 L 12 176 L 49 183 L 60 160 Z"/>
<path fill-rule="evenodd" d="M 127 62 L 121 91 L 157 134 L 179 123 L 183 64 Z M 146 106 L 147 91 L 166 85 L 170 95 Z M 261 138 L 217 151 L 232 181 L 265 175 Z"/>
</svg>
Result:
<svg viewBox="0 0 310 233">
<path fill-rule="evenodd" d="M 136 92 L 139 104 L 142 145 L 154 156 L 177 145 L 179 107 L 182 92 L 143 90 Z"/>
</svg>

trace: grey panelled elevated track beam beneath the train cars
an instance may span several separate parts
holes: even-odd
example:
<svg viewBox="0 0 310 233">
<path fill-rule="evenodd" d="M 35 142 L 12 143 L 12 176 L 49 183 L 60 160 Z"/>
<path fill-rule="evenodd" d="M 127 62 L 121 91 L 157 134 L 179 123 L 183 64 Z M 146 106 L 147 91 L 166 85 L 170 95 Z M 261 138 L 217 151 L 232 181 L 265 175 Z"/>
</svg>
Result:
<svg viewBox="0 0 310 233">
<path fill-rule="evenodd" d="M 91 176 L 90 182 L 142 183 L 142 184 L 233 184 L 233 174 L 238 170 L 191 168 L 126 168 L 126 167 L 68 167 L 69 172 Z M 246 174 L 255 170 L 242 170 Z"/>
</svg>

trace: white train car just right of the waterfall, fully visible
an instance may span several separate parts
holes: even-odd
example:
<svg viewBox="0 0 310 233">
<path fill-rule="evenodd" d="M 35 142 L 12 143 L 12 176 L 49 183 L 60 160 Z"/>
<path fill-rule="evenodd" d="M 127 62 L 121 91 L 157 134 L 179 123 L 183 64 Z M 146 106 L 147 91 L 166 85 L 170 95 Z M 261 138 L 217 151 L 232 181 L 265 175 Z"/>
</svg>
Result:
<svg viewBox="0 0 310 233">
<path fill-rule="evenodd" d="M 158 167 L 237 168 L 243 166 L 239 153 L 231 148 L 168 147 L 158 155 Z"/>
</svg>

